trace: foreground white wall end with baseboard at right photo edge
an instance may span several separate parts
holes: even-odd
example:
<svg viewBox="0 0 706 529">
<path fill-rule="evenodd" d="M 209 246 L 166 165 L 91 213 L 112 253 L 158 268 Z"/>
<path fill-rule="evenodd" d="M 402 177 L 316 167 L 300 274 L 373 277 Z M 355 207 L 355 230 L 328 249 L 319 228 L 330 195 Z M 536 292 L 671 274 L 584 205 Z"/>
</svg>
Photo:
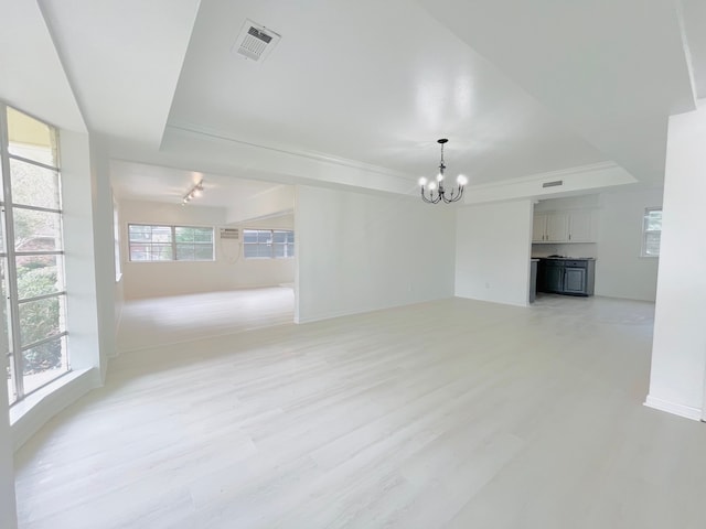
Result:
<svg viewBox="0 0 706 529">
<path fill-rule="evenodd" d="M 706 367 L 706 108 L 670 118 L 648 406 L 699 419 Z"/>
</svg>

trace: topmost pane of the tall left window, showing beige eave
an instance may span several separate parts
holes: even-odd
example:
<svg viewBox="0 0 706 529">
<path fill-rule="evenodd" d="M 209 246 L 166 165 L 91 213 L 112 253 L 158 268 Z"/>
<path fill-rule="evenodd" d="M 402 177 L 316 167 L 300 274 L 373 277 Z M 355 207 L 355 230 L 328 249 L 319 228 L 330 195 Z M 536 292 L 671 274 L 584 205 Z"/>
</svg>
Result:
<svg viewBox="0 0 706 529">
<path fill-rule="evenodd" d="M 10 154 L 58 166 L 56 131 L 53 127 L 8 107 Z"/>
</svg>

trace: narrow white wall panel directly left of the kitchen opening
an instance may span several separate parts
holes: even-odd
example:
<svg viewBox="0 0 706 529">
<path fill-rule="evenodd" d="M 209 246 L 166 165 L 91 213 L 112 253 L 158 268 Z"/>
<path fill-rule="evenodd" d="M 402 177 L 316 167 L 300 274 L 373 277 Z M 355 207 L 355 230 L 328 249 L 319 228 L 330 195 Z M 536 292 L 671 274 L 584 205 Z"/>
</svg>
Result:
<svg viewBox="0 0 706 529">
<path fill-rule="evenodd" d="M 466 206 L 458 212 L 456 295 L 526 305 L 532 201 Z"/>
</svg>

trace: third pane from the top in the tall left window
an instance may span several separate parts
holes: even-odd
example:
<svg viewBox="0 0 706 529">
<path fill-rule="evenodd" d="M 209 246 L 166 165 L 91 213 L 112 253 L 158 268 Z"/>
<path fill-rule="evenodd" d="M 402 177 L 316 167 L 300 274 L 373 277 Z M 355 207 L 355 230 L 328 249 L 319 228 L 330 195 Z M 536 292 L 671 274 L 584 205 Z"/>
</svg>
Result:
<svg viewBox="0 0 706 529">
<path fill-rule="evenodd" d="M 17 251 L 61 250 L 61 214 L 15 207 L 14 249 Z"/>
</svg>

